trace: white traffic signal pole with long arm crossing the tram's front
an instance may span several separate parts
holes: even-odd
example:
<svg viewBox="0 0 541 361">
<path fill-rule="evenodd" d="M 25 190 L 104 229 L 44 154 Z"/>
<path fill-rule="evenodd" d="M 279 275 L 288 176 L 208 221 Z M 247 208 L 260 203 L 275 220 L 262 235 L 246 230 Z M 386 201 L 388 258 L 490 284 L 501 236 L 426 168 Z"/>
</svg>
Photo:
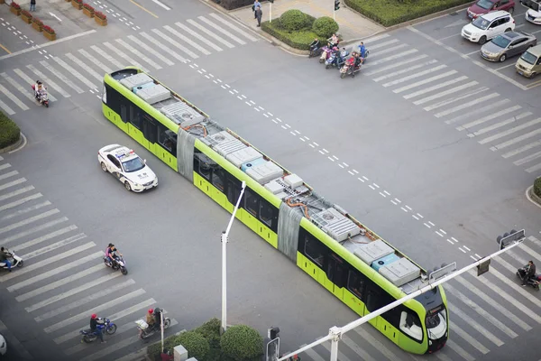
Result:
<svg viewBox="0 0 541 361">
<path fill-rule="evenodd" d="M 414 299 L 418 295 L 423 294 L 425 292 L 428 292 L 428 291 L 436 288 L 440 284 L 445 283 L 445 282 L 447 282 L 449 280 L 452 280 L 455 277 L 470 271 L 472 268 L 475 268 L 477 266 L 480 266 L 480 265 L 482 266 L 484 264 L 490 263 L 491 258 L 494 258 L 497 255 L 501 255 L 502 253 L 507 252 L 509 249 L 521 244 L 524 241 L 524 239 L 525 238 L 522 238 L 520 240 L 513 240 L 512 244 L 507 245 L 507 246 L 504 245 L 504 247 L 502 249 L 500 249 L 500 251 L 498 251 L 496 253 L 493 253 L 492 255 L 487 255 L 486 257 L 481 258 L 479 261 L 474 262 L 473 264 L 469 264 L 469 265 L 463 267 L 462 269 L 460 269 L 458 271 L 455 271 L 454 273 L 451 273 L 449 275 L 446 275 L 443 278 L 440 278 L 439 280 L 436 280 L 436 282 L 428 283 L 425 287 L 417 290 L 416 292 L 409 293 L 408 295 L 402 297 L 401 299 L 399 299 L 397 301 L 394 301 L 394 302 L 390 303 L 389 305 L 387 305 L 385 307 L 382 307 L 379 310 L 374 310 L 371 313 L 369 313 L 368 315 L 362 317 L 361 319 L 354 320 L 353 322 L 348 323 L 347 325 L 345 325 L 342 328 L 339 328 L 339 327 L 335 326 L 335 327 L 329 329 L 329 334 L 325 338 L 319 338 L 318 340 L 312 342 L 311 344 L 309 344 L 309 345 L 307 345 L 305 347 L 300 347 L 298 350 L 296 350 L 294 352 L 291 352 L 288 355 L 281 356 L 277 361 L 286 361 L 286 360 L 288 360 L 289 357 L 294 356 L 294 355 L 298 355 L 301 352 L 306 351 L 307 349 L 310 349 L 312 347 L 316 347 L 317 345 L 320 345 L 320 344 L 322 344 L 322 343 L 324 343 L 326 341 L 331 341 L 331 361 L 337 361 L 338 360 L 338 342 L 342 339 L 342 335 L 344 335 L 344 333 L 346 333 L 347 331 L 351 331 L 352 329 L 355 329 L 355 328 L 361 326 L 362 324 L 370 321 L 371 319 L 374 319 L 374 318 L 380 316 L 381 314 L 387 312 L 388 310 L 392 310 L 395 307 L 401 305 L 402 303 L 404 303 L 406 301 L 409 301 L 411 299 Z"/>
</svg>

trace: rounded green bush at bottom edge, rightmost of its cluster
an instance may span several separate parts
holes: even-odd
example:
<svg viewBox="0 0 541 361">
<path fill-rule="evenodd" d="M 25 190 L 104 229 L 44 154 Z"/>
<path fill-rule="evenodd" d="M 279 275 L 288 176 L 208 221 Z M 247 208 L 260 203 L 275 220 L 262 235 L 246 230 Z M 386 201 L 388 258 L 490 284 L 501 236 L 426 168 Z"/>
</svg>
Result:
<svg viewBox="0 0 541 361">
<path fill-rule="evenodd" d="M 227 329 L 222 335 L 220 346 L 225 356 L 235 361 L 254 359 L 263 354 L 263 339 L 259 332 L 244 325 Z"/>
</svg>

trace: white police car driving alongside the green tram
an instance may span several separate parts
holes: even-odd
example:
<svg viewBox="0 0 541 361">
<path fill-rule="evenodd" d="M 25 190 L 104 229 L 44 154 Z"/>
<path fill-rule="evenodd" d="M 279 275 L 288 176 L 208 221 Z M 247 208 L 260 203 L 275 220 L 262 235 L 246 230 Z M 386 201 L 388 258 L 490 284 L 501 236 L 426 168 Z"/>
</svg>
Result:
<svg viewBox="0 0 541 361">
<path fill-rule="evenodd" d="M 111 144 L 97 152 L 97 162 L 102 171 L 110 172 L 124 183 L 126 190 L 142 192 L 158 187 L 158 177 L 133 150 L 119 144 Z"/>
</svg>

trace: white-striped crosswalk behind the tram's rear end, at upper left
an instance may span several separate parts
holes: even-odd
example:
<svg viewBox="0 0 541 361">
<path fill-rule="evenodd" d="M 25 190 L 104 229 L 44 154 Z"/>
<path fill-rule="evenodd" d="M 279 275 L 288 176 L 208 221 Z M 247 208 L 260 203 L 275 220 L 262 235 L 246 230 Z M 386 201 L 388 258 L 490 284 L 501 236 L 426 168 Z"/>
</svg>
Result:
<svg viewBox="0 0 541 361">
<path fill-rule="evenodd" d="M 52 103 L 86 92 L 97 95 L 103 75 L 116 69 L 163 69 L 250 42 L 257 42 L 257 38 L 249 31 L 211 13 L 63 55 L 47 54 L 44 60 L 0 73 L 0 109 L 10 116 L 28 110 L 34 102 L 30 86 L 35 79 L 48 86 Z"/>
</svg>

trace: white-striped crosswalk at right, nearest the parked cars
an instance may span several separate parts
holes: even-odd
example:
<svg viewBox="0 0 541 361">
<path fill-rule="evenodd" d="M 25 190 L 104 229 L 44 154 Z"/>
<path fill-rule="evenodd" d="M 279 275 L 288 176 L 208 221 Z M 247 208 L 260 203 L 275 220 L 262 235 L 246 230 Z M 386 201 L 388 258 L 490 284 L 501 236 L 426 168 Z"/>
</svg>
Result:
<svg viewBox="0 0 541 361">
<path fill-rule="evenodd" d="M 362 75 L 528 173 L 541 174 L 541 112 L 535 107 L 514 104 L 389 34 L 364 44 L 371 54 Z"/>
</svg>

